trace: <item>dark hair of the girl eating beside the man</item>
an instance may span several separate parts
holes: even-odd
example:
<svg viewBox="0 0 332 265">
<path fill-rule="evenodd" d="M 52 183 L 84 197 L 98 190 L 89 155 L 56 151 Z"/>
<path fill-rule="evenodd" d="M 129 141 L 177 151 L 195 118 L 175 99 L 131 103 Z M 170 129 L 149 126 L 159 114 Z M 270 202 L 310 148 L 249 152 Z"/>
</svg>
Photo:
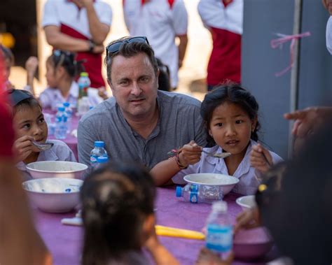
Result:
<svg viewBox="0 0 332 265">
<path fill-rule="evenodd" d="M 209 124 L 212 119 L 214 109 L 220 106 L 224 102 L 234 103 L 240 106 L 242 110 L 248 113 L 251 120 L 258 117 L 258 103 L 253 95 L 240 85 L 235 83 L 228 83 L 225 85 L 219 85 L 215 87 L 211 92 L 205 95 L 205 99 L 200 107 L 200 115 L 205 122 L 207 129 L 207 143 L 209 145 L 215 145 L 214 139 L 209 136 Z M 258 141 L 258 130 L 261 125 L 257 121 L 254 131 L 251 132 L 251 139 Z"/>
</svg>

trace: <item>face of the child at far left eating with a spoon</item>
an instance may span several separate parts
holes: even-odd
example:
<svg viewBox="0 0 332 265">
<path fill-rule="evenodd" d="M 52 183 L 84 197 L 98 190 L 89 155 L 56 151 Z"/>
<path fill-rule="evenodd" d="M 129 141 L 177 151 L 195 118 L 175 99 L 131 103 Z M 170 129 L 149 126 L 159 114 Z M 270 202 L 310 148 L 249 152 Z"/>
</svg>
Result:
<svg viewBox="0 0 332 265">
<path fill-rule="evenodd" d="M 32 136 L 37 142 L 46 142 L 48 127 L 39 106 L 21 106 L 15 113 L 13 122 L 18 138 Z"/>
</svg>

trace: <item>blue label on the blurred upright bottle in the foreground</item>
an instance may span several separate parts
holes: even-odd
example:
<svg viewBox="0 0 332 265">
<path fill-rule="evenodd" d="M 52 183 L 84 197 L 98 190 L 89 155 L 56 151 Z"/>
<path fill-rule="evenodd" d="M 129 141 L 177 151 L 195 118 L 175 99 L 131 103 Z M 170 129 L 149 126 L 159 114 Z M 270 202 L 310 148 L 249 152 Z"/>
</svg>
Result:
<svg viewBox="0 0 332 265">
<path fill-rule="evenodd" d="M 233 232 L 231 226 L 209 224 L 207 226 L 206 246 L 210 250 L 228 252 L 233 245 Z"/>
</svg>

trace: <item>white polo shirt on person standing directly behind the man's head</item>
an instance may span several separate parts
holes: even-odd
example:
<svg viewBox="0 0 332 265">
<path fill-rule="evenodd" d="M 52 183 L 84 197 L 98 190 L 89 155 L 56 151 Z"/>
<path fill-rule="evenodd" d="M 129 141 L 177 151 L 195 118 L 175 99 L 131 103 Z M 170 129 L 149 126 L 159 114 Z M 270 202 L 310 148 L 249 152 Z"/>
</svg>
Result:
<svg viewBox="0 0 332 265">
<path fill-rule="evenodd" d="M 158 57 L 170 68 L 172 87 L 179 81 L 176 36 L 186 35 L 188 14 L 183 0 L 124 0 L 123 13 L 130 36 L 146 36 Z"/>
</svg>

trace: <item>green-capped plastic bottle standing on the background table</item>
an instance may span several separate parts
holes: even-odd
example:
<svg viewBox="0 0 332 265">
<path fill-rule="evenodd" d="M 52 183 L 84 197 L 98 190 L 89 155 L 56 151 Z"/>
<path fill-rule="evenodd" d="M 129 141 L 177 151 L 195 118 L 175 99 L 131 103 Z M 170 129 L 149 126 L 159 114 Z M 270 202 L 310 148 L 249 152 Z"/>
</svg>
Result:
<svg viewBox="0 0 332 265">
<path fill-rule="evenodd" d="M 78 78 L 78 101 L 77 112 L 78 115 L 84 115 L 89 111 L 90 101 L 88 98 L 88 88 L 91 85 L 89 75 L 86 72 L 82 72 L 80 78 Z"/>
</svg>

